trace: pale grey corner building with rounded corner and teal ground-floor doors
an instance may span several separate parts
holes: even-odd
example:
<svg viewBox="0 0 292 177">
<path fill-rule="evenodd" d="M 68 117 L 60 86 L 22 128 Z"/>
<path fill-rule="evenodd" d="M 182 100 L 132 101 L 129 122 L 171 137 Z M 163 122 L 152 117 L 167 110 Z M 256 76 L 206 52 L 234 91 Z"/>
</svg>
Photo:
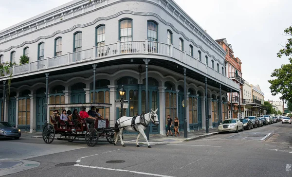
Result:
<svg viewBox="0 0 292 177">
<path fill-rule="evenodd" d="M 29 63 L 19 65 L 21 55 Z M 0 31 L 1 61 L 18 64 L 2 69 L 1 115 L 22 130 L 41 131 L 45 113 L 53 112 L 48 93 L 48 104 L 112 104 L 99 109 L 113 126 L 124 86 L 125 116 L 158 108 L 160 126 L 150 133 L 165 133 L 168 114 L 181 130 L 185 118 L 188 131 L 206 128 L 209 116 L 209 127 L 217 126 L 228 114 L 226 93 L 240 91 L 226 76 L 225 55 L 173 0 L 74 0 Z M 54 109 L 63 108 L 72 109 Z"/>
</svg>

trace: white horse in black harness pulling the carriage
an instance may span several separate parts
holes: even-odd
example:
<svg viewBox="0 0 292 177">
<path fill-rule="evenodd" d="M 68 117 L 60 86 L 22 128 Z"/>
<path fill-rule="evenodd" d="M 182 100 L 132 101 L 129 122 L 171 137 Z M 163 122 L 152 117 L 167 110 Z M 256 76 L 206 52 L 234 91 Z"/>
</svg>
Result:
<svg viewBox="0 0 292 177">
<path fill-rule="evenodd" d="M 144 114 L 145 119 L 142 118 L 142 122 L 140 121 L 140 116 L 137 116 L 134 124 L 132 124 L 132 117 L 123 116 L 120 119 L 118 119 L 116 124 L 114 125 L 115 132 L 116 132 L 116 139 L 115 139 L 115 142 L 113 144 L 116 145 L 116 143 L 118 142 L 118 136 L 120 136 L 120 140 L 121 140 L 123 147 L 126 146 L 123 142 L 123 139 L 122 139 L 123 129 L 126 129 L 129 132 L 139 132 L 139 134 L 137 136 L 137 140 L 136 140 L 137 147 L 140 147 L 138 140 L 139 140 L 140 135 L 142 134 L 143 137 L 145 138 L 147 144 L 148 144 L 148 147 L 150 148 L 151 145 L 147 141 L 147 137 L 144 133 L 144 130 L 146 130 L 146 127 L 151 122 L 156 126 L 159 125 L 158 116 L 156 113 L 157 113 L 157 109 L 155 111 L 153 111 L 151 109 L 151 112 Z"/>
</svg>

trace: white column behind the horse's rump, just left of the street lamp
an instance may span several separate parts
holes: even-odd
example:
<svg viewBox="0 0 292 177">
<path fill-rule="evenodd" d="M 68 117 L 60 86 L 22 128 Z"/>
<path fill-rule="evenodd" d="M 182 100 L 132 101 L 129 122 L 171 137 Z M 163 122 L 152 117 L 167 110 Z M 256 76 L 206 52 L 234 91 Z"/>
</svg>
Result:
<svg viewBox="0 0 292 177">
<path fill-rule="evenodd" d="M 115 124 L 115 120 L 116 120 L 116 111 L 117 108 L 115 107 L 115 102 L 114 100 L 116 99 L 117 96 L 117 85 L 109 85 L 108 86 L 110 88 L 110 127 L 114 127 Z"/>
</svg>

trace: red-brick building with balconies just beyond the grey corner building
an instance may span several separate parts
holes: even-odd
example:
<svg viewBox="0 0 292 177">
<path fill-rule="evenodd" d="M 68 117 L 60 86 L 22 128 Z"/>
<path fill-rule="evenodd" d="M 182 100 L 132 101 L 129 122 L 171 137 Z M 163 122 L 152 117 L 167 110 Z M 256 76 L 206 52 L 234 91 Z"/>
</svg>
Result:
<svg viewBox="0 0 292 177">
<path fill-rule="evenodd" d="M 216 40 L 219 45 L 222 46 L 226 52 L 225 65 L 226 65 L 226 76 L 237 82 L 240 87 L 239 92 L 227 93 L 228 101 L 228 118 L 243 118 L 244 117 L 244 106 L 245 99 L 242 95 L 242 87 L 244 86 L 244 79 L 242 78 L 241 72 L 241 60 L 234 56 L 234 52 L 231 44 L 228 44 L 226 38 Z"/>
</svg>

